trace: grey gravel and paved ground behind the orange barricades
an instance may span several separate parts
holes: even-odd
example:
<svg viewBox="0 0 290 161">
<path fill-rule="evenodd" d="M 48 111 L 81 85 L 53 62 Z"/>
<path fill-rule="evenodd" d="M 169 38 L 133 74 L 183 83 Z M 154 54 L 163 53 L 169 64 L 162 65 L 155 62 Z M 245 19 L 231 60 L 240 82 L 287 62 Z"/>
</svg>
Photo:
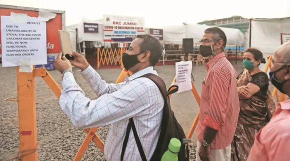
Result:
<svg viewBox="0 0 290 161">
<path fill-rule="evenodd" d="M 237 65 L 235 65 L 235 61 L 232 63 L 238 73 L 242 71 L 241 61 L 238 61 Z M 157 70 L 168 88 L 175 75 L 174 65 L 156 66 L 154 69 Z M 81 77 L 78 69 L 74 70 L 76 81 L 86 92 L 86 95 L 95 99 L 93 90 Z M 120 69 L 97 70 L 107 82 L 115 82 L 120 71 Z M 60 73 L 58 71 L 49 71 L 49 73 L 60 85 Z M 205 74 L 204 66 L 193 67 L 192 75 L 198 93 L 201 91 L 201 81 Z M 4 101 L 5 98 L 17 95 L 16 68 L 3 68 L 0 64 L 0 80 L 0 160 L 6 160 L 16 154 L 19 145 L 17 102 Z M 36 78 L 36 98 L 38 160 L 72 160 L 85 137 L 83 130 L 75 129 L 71 125 L 70 120 L 59 108 L 58 99 L 40 77 Z M 198 111 L 198 105 L 191 91 L 173 94 L 171 107 L 187 134 Z M 97 134 L 102 140 L 105 140 L 107 130 L 108 126 L 98 129 Z M 195 132 L 191 140 L 193 145 L 191 155 L 194 155 Z M 191 160 L 193 158 L 194 156 L 191 156 Z M 104 160 L 104 157 L 91 142 L 82 160 Z"/>
</svg>

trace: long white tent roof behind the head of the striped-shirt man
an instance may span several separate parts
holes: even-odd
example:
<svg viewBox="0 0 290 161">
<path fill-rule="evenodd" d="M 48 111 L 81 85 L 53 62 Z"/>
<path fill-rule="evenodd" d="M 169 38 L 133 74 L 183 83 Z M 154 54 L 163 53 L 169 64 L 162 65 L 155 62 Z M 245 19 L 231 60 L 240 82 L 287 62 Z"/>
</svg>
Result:
<svg viewBox="0 0 290 161">
<path fill-rule="evenodd" d="M 206 28 L 212 26 L 201 25 L 201 24 L 181 24 L 163 27 L 163 39 L 165 42 L 176 42 L 182 43 L 182 38 L 193 38 L 193 41 L 199 41 Z M 244 34 L 236 28 L 225 28 L 222 29 L 226 35 L 227 45 L 238 45 L 243 46 L 245 43 Z"/>
</svg>

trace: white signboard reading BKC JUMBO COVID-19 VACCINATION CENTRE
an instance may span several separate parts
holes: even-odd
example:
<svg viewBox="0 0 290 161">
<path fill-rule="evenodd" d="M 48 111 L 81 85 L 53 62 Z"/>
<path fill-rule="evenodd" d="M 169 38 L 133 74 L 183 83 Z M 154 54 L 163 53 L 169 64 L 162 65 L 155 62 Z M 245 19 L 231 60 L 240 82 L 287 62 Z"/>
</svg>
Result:
<svg viewBox="0 0 290 161">
<path fill-rule="evenodd" d="M 144 34 L 144 17 L 103 15 L 103 41 L 132 41 L 137 34 Z"/>
</svg>

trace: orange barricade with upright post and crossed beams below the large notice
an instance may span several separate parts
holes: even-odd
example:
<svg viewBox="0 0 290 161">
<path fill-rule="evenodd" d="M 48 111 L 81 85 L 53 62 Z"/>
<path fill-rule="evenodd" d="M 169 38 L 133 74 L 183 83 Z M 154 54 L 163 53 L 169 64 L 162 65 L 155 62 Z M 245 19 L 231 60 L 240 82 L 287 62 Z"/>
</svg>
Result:
<svg viewBox="0 0 290 161">
<path fill-rule="evenodd" d="M 126 74 L 126 73 L 125 73 Z M 34 68 L 32 72 L 19 72 L 17 67 L 17 88 L 18 88 L 18 116 L 19 116 L 19 152 L 17 158 L 24 157 L 25 160 L 37 160 L 37 135 L 36 135 L 36 106 L 35 106 L 35 76 L 41 76 L 53 93 L 59 98 L 60 87 L 46 71 L 44 67 Z M 103 151 L 104 143 L 95 134 L 97 127 L 84 129 L 87 134 L 74 160 L 80 160 L 85 144 L 90 140 Z M 89 141 L 87 141 L 89 139 Z M 86 145 L 86 147 L 87 147 Z M 28 149 L 28 150 L 27 150 Z M 82 153 L 81 157 L 77 157 Z"/>
</svg>

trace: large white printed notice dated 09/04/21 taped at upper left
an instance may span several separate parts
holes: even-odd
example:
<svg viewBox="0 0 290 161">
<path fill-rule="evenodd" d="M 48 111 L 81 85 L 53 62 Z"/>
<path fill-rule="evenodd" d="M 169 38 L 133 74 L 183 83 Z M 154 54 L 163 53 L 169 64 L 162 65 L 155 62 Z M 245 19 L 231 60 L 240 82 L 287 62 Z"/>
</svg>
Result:
<svg viewBox="0 0 290 161">
<path fill-rule="evenodd" d="M 46 22 L 28 16 L 27 22 L 13 22 L 1 16 L 2 66 L 19 66 L 19 59 L 30 65 L 47 64 Z M 21 64 L 20 64 L 21 65 Z"/>
</svg>

